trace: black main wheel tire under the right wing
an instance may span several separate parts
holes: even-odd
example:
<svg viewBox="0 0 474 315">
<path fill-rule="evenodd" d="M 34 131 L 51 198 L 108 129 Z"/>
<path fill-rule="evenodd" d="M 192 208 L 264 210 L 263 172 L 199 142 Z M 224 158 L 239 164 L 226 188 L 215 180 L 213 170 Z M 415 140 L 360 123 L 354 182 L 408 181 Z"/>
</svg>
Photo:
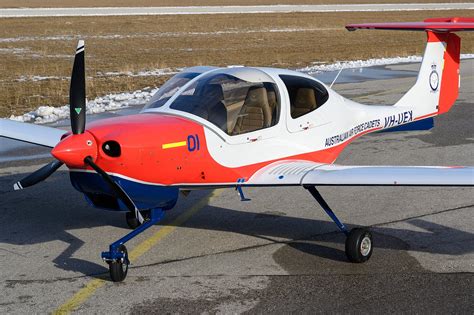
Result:
<svg viewBox="0 0 474 315">
<path fill-rule="evenodd" d="M 364 228 L 355 228 L 346 238 L 346 256 L 350 262 L 363 263 L 372 256 L 372 234 Z"/>
</svg>

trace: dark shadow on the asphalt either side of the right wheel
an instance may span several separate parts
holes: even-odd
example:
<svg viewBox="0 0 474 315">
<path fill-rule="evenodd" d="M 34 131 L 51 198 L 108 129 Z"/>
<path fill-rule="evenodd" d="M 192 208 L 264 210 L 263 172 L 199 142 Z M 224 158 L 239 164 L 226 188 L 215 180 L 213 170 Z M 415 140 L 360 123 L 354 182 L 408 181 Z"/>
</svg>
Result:
<svg viewBox="0 0 474 315">
<path fill-rule="evenodd" d="M 318 211 L 315 208 L 315 211 Z M 320 211 L 323 211 L 320 209 Z M 213 214 L 218 214 L 222 220 L 216 220 Z M 474 252 L 474 233 L 461 231 L 448 226 L 426 221 L 422 218 L 407 218 L 403 220 L 414 227 L 399 229 L 385 226 L 371 227 L 374 234 L 376 248 L 391 250 L 413 250 L 443 255 L 465 255 Z M 349 229 L 356 227 L 346 224 Z M 273 213 L 244 212 L 226 208 L 208 206 L 205 213 L 193 217 L 185 224 L 188 228 L 206 229 L 239 233 L 257 238 L 267 239 L 276 243 L 285 243 L 296 249 L 308 251 L 315 255 L 337 260 L 347 261 L 344 251 L 333 247 L 322 246 L 320 243 L 344 243 L 345 237 L 339 232 L 336 225 L 329 221 L 305 219 L 291 216 L 279 216 Z M 423 231 L 420 231 L 420 230 Z M 407 245 L 399 241 L 377 241 L 380 235 L 390 238 L 416 240 Z M 308 243 L 315 241 L 316 243 Z M 462 243 L 462 246 L 452 246 L 450 243 Z"/>
</svg>

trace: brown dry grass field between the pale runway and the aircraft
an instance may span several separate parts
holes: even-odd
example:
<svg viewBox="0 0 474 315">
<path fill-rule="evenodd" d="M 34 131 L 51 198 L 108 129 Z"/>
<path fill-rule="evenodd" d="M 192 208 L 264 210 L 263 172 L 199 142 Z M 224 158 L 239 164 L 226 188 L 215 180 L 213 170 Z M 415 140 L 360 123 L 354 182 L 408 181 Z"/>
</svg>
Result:
<svg viewBox="0 0 474 315">
<path fill-rule="evenodd" d="M 193 65 L 299 68 L 313 62 L 420 55 L 425 34 L 348 32 L 351 22 L 419 21 L 472 11 L 292 13 L 0 19 L 0 117 L 68 102 L 72 57 L 86 40 L 88 98 L 159 86 L 166 76 L 131 77 Z M 462 34 L 464 53 L 474 34 Z M 115 75 L 104 75 L 115 72 Z M 34 76 L 41 76 L 41 80 Z"/>
</svg>

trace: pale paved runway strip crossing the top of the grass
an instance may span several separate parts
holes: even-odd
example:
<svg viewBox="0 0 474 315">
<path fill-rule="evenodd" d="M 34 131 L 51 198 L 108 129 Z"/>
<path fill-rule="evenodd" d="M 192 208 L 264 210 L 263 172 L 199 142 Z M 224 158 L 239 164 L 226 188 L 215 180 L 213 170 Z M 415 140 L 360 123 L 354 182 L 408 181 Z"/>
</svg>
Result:
<svg viewBox="0 0 474 315">
<path fill-rule="evenodd" d="M 111 7 L 111 8 L 19 8 L 0 9 L 0 17 L 108 16 L 108 15 L 181 15 L 288 12 L 381 12 L 420 10 L 468 10 L 474 3 L 396 3 L 330 5 L 258 5 L 196 7 Z"/>
</svg>

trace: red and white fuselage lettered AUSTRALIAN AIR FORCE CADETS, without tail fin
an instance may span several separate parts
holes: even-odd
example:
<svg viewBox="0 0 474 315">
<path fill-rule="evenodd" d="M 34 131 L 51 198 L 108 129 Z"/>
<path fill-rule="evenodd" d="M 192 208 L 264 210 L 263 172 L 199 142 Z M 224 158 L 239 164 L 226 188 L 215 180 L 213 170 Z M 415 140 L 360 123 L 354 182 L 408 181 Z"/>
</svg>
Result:
<svg viewBox="0 0 474 315">
<path fill-rule="evenodd" d="M 294 71 L 188 71 L 140 114 L 87 127 L 95 162 L 142 207 L 171 208 L 179 189 L 252 185 L 254 174 L 282 160 L 330 164 L 356 137 L 415 119 L 403 109 L 354 103 Z M 65 153 L 53 154 L 64 160 Z M 124 208 L 93 170 L 65 162 L 74 187 L 94 205 Z"/>
</svg>

